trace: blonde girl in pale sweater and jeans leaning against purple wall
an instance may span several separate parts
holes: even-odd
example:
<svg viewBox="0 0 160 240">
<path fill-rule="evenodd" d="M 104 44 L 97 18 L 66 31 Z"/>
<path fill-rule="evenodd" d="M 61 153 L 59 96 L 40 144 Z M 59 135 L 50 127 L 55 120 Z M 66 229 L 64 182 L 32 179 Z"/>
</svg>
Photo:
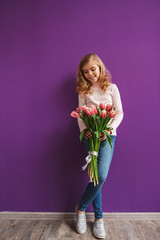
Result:
<svg viewBox="0 0 160 240">
<path fill-rule="evenodd" d="M 93 234 L 97 238 L 105 238 L 101 188 L 107 178 L 111 164 L 115 145 L 116 129 L 123 118 L 121 98 L 117 86 L 111 83 L 111 75 L 109 71 L 105 68 L 101 59 L 96 54 L 87 54 L 81 59 L 77 73 L 76 91 L 78 93 L 79 106 L 98 106 L 100 103 L 104 103 L 106 105 L 111 104 L 115 108 L 116 112 L 115 117 L 108 124 L 109 127 L 113 128 L 112 131 L 108 131 L 112 138 L 112 148 L 108 142 L 105 145 L 106 135 L 101 133 L 101 144 L 97 160 L 99 184 L 94 186 L 93 182 L 89 182 L 79 204 L 76 206 L 76 229 L 78 233 L 85 233 L 86 231 L 85 210 L 90 203 L 92 203 L 95 214 Z M 80 131 L 83 131 L 86 128 L 80 118 L 78 118 L 78 125 Z M 88 155 L 89 151 L 88 139 L 91 136 L 91 132 L 86 130 L 83 137 L 86 155 Z"/>
</svg>

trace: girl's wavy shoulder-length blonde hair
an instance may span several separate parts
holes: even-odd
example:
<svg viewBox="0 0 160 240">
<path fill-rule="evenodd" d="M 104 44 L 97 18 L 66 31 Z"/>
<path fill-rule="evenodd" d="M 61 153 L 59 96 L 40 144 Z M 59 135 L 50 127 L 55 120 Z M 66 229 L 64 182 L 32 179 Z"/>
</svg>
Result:
<svg viewBox="0 0 160 240">
<path fill-rule="evenodd" d="M 101 59 L 95 53 L 87 54 L 81 59 L 77 71 L 76 92 L 81 96 L 84 96 L 88 93 L 93 93 L 93 90 L 91 89 L 92 84 L 89 80 L 85 78 L 82 71 L 82 67 L 91 60 L 93 60 L 95 64 L 99 67 L 100 76 L 98 79 L 98 83 L 100 88 L 105 92 L 108 86 L 111 84 L 112 76 L 110 72 L 106 69 Z"/>
</svg>

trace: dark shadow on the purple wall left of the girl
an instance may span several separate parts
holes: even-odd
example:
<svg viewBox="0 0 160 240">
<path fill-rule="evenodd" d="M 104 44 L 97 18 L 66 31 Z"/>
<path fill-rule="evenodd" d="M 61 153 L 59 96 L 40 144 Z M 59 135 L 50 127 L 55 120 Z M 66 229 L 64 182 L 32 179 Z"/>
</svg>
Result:
<svg viewBox="0 0 160 240">
<path fill-rule="evenodd" d="M 78 105 L 78 96 L 75 92 L 75 77 L 68 77 L 57 90 L 55 99 L 62 96 L 58 102 L 61 109 L 60 121 L 63 126 L 58 129 L 59 138 L 55 138 L 56 152 L 61 161 L 59 171 L 60 187 L 63 196 L 62 211 L 74 211 L 75 205 L 80 200 L 85 186 L 87 174 L 82 172 L 82 165 L 85 163 L 85 155 L 82 143 L 79 140 L 79 128 L 77 119 L 73 119 L 70 114 Z"/>
</svg>

